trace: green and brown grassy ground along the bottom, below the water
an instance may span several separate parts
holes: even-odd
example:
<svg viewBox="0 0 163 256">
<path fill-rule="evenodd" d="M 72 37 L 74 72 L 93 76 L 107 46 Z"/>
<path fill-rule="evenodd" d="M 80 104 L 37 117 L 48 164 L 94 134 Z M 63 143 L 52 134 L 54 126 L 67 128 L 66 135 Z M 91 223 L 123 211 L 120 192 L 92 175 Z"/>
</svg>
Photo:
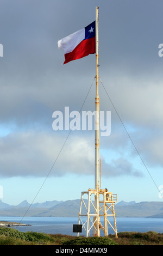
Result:
<svg viewBox="0 0 163 256">
<path fill-rule="evenodd" d="M 23 233 L 13 228 L 0 228 L 0 245 L 163 245 L 163 234 L 121 232 L 108 237 L 77 237 L 37 232 Z"/>
</svg>

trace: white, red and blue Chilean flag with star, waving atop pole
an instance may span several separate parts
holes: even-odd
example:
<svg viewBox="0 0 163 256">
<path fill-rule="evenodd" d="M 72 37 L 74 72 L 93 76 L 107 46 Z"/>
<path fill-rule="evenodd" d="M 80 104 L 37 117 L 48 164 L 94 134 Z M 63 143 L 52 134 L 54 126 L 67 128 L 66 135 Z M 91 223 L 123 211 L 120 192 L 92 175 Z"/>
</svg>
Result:
<svg viewBox="0 0 163 256">
<path fill-rule="evenodd" d="M 64 64 L 96 53 L 95 25 L 95 21 L 93 21 L 85 28 L 58 41 L 58 48 L 64 50 L 65 53 Z"/>
</svg>

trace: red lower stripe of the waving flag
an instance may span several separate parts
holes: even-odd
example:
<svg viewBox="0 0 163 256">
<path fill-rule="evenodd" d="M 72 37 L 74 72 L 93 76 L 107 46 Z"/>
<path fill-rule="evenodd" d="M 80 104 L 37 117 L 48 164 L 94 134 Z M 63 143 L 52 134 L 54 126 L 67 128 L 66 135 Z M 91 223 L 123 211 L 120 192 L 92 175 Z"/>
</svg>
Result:
<svg viewBox="0 0 163 256">
<path fill-rule="evenodd" d="M 65 54 L 64 64 L 75 59 L 81 59 L 89 54 L 96 53 L 96 38 L 85 39 L 74 48 L 72 52 Z"/>
</svg>

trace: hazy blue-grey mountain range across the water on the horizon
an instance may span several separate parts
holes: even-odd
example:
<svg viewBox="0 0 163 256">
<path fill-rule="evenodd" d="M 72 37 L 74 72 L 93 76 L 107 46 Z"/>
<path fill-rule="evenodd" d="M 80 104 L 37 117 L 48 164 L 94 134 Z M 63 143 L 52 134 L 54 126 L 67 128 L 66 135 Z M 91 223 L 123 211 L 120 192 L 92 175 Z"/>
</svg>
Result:
<svg viewBox="0 0 163 256">
<path fill-rule="evenodd" d="M 80 199 L 46 201 L 30 205 L 24 200 L 18 205 L 9 205 L 0 200 L 0 216 L 30 217 L 78 217 Z M 116 217 L 163 218 L 163 202 L 136 203 L 121 201 L 115 204 Z"/>
</svg>

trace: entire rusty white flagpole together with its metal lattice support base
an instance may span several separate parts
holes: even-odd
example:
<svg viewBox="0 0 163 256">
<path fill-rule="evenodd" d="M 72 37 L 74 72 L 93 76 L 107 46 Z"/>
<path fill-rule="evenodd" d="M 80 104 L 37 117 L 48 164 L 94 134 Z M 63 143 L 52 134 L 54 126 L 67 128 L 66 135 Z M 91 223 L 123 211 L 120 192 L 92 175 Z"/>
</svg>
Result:
<svg viewBox="0 0 163 256">
<path fill-rule="evenodd" d="M 89 190 L 82 192 L 80 200 L 79 222 L 83 225 L 86 231 L 86 236 L 90 236 L 90 230 L 93 229 L 93 236 L 100 236 L 101 229 L 104 231 L 104 235 L 108 235 L 108 224 L 115 231 L 117 237 L 116 219 L 114 203 L 117 202 L 117 196 L 112 192 L 108 192 L 105 188 L 99 189 L 99 95 L 98 95 L 98 67 L 99 67 L 99 55 L 98 55 L 98 7 L 96 7 L 96 97 L 95 97 L 95 189 L 89 188 Z M 84 196 L 87 195 L 86 200 Z M 91 199 L 93 196 L 94 202 Z M 102 197 L 101 200 L 100 197 Z M 84 209 L 82 206 L 84 205 Z M 109 222 L 108 217 L 114 217 L 114 227 Z M 84 218 L 84 220 L 83 220 Z M 101 219 L 103 218 L 103 222 Z M 79 233 L 78 233 L 79 235 Z"/>
</svg>

